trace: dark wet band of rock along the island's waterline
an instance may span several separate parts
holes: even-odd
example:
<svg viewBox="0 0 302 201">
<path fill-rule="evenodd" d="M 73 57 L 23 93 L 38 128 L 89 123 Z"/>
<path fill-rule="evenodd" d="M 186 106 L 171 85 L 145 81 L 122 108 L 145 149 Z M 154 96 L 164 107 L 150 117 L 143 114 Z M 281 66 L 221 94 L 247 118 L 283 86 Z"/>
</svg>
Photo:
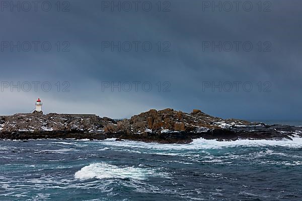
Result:
<svg viewBox="0 0 302 201">
<path fill-rule="evenodd" d="M 296 127 L 284 127 L 296 128 Z M 298 129 L 298 128 L 296 128 Z M 302 133 L 302 131 L 301 131 Z M 145 133 L 142 135 L 127 135 L 126 133 L 66 133 L 66 132 L 13 132 L 0 133 L 0 140 L 108 140 L 115 141 L 137 141 L 145 143 L 159 144 L 189 144 L 195 139 L 215 140 L 215 141 L 238 141 L 238 140 L 292 140 L 295 137 L 302 137 L 301 133 L 286 132 L 286 133 L 269 133 L 269 132 L 232 132 L 230 130 L 210 130 L 203 133 L 185 133 L 172 132 L 165 135 L 155 135 L 154 133 Z"/>
</svg>

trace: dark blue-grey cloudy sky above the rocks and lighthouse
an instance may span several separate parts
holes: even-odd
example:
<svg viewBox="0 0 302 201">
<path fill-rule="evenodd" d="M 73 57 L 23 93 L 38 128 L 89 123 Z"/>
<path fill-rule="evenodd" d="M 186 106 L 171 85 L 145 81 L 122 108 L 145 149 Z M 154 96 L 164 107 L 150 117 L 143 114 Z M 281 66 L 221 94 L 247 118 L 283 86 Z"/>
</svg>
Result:
<svg viewBox="0 0 302 201">
<path fill-rule="evenodd" d="M 302 119 L 299 0 L 0 7 L 1 115 L 31 112 L 40 97 L 44 113 Z"/>
</svg>

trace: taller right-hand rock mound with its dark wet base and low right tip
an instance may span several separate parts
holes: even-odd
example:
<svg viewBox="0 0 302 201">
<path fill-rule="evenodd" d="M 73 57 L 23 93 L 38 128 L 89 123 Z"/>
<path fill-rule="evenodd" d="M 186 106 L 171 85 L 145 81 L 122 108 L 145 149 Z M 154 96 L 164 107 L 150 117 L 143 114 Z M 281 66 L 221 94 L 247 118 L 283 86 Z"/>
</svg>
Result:
<svg viewBox="0 0 302 201">
<path fill-rule="evenodd" d="M 238 139 L 291 139 L 301 136 L 302 129 L 292 126 L 269 126 L 237 119 L 216 118 L 193 110 L 183 113 L 166 109 L 150 110 L 133 116 L 129 121 L 120 122 L 123 126 L 118 140 L 138 140 L 160 143 L 189 143 L 196 138 L 223 140 Z"/>
</svg>

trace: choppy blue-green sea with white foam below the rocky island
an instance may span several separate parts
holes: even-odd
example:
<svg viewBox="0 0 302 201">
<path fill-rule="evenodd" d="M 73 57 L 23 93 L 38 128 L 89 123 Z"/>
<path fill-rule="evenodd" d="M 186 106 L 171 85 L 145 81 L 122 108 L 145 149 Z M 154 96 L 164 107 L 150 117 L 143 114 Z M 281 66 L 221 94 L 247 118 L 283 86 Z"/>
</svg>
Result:
<svg viewBox="0 0 302 201">
<path fill-rule="evenodd" d="M 302 139 L 0 141 L 0 200 L 302 200 Z"/>
</svg>

